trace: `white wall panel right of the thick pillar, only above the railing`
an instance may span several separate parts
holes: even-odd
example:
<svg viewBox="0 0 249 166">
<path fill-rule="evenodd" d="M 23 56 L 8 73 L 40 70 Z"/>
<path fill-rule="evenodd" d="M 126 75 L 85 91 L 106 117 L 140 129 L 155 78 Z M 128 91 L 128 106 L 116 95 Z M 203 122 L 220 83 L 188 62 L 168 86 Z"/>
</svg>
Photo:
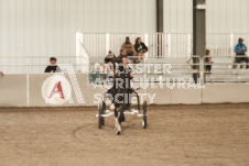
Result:
<svg viewBox="0 0 249 166">
<path fill-rule="evenodd" d="M 207 33 L 249 33 L 248 0 L 206 0 Z"/>
</svg>

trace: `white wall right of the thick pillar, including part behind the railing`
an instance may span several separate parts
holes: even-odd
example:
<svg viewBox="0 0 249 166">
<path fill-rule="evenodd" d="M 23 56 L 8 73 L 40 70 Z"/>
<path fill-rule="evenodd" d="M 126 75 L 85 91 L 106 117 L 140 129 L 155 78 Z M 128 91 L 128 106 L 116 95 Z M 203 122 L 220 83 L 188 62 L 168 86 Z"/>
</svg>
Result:
<svg viewBox="0 0 249 166">
<path fill-rule="evenodd" d="M 248 45 L 248 0 L 206 0 L 206 47 L 212 56 L 234 56 L 239 37 Z"/>
</svg>

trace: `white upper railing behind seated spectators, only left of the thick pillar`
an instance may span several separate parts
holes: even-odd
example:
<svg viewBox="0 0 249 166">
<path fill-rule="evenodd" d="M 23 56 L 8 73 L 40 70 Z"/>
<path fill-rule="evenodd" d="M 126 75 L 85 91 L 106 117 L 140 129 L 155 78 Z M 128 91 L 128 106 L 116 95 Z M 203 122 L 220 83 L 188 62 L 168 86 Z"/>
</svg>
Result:
<svg viewBox="0 0 249 166">
<path fill-rule="evenodd" d="M 126 37 L 134 44 L 137 37 L 148 46 L 148 57 L 191 56 L 193 34 L 191 33 L 79 33 L 90 57 L 104 57 L 108 51 L 118 56 Z"/>
</svg>

